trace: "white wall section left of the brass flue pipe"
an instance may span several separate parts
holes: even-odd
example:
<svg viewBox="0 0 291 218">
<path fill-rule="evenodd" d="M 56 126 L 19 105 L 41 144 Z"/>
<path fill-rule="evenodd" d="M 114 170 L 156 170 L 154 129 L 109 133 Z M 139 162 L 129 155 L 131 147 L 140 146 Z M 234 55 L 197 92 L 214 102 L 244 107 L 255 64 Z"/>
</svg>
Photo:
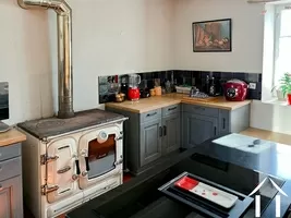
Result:
<svg viewBox="0 0 291 218">
<path fill-rule="evenodd" d="M 0 81 L 10 86 L 10 124 L 52 110 L 47 13 L 25 11 L 16 2 L 0 1 Z"/>
</svg>

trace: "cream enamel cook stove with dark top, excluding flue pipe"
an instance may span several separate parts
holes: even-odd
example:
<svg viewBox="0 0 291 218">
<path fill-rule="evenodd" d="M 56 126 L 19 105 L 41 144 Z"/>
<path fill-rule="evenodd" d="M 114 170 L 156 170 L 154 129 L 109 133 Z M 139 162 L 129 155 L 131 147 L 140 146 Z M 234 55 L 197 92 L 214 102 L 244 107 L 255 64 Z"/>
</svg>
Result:
<svg viewBox="0 0 291 218">
<path fill-rule="evenodd" d="M 89 110 L 70 119 L 20 123 L 24 199 L 37 218 L 50 218 L 122 184 L 123 121 Z"/>
</svg>

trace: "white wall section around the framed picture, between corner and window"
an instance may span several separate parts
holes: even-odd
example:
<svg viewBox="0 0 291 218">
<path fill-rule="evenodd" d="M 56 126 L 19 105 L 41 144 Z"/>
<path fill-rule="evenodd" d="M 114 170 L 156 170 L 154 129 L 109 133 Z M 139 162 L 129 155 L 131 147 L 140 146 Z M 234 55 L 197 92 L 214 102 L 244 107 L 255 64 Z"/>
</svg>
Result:
<svg viewBox="0 0 291 218">
<path fill-rule="evenodd" d="M 246 0 L 177 0 L 175 68 L 262 73 L 264 4 Z M 232 52 L 193 52 L 192 23 L 232 19 Z"/>
</svg>

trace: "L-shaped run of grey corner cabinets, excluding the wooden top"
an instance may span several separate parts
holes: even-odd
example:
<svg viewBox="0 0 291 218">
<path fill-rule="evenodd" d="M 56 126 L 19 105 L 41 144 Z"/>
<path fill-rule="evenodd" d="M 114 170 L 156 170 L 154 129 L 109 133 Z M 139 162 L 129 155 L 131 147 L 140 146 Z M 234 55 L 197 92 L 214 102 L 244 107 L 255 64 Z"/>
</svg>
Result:
<svg viewBox="0 0 291 218">
<path fill-rule="evenodd" d="M 250 126 L 250 105 L 225 110 L 178 104 L 144 113 L 106 109 L 129 118 L 124 122 L 123 168 L 134 174 L 155 167 L 159 159 L 180 147 L 192 148 L 211 137 L 239 133 Z"/>
</svg>

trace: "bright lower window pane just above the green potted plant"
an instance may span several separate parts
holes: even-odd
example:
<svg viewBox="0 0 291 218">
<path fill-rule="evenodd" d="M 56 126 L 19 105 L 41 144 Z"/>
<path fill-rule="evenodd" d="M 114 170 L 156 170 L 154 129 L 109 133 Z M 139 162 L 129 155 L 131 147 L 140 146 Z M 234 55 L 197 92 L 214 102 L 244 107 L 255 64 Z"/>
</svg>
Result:
<svg viewBox="0 0 291 218">
<path fill-rule="evenodd" d="M 280 38 L 278 57 L 276 59 L 275 83 L 277 83 L 286 72 L 291 72 L 290 60 L 291 60 L 291 37 Z"/>
</svg>

